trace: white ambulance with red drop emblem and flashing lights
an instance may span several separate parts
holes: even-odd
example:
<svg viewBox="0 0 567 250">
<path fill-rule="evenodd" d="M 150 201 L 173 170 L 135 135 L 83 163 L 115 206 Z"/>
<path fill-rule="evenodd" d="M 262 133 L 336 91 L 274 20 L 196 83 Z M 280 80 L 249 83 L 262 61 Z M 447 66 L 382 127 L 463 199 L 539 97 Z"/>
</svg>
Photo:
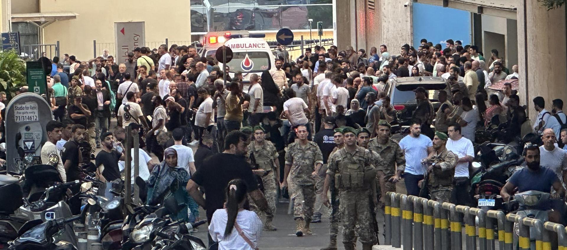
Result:
<svg viewBox="0 0 567 250">
<path fill-rule="evenodd" d="M 264 34 L 251 34 L 231 38 L 225 42 L 225 45 L 232 50 L 232 60 L 227 63 L 230 68 L 229 76 L 232 78 L 236 72 L 242 72 L 244 92 L 248 92 L 252 74 L 261 76 L 263 71 L 269 71 L 275 67 L 276 57 L 274 57 L 268 42 L 264 40 L 264 36 Z M 235 37 L 235 35 L 232 35 L 232 37 Z M 224 68 L 223 63 L 218 65 L 220 68 Z"/>
</svg>

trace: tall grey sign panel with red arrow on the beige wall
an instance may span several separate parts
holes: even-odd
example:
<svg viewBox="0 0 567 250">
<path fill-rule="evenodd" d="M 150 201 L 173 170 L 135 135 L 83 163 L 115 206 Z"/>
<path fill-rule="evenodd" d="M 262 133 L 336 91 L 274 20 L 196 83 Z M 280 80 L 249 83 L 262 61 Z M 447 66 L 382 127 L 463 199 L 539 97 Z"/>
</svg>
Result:
<svg viewBox="0 0 567 250">
<path fill-rule="evenodd" d="M 143 21 L 127 23 L 114 23 L 116 63 L 123 63 L 128 59 L 128 52 L 136 47 L 146 46 L 145 24 Z"/>
</svg>

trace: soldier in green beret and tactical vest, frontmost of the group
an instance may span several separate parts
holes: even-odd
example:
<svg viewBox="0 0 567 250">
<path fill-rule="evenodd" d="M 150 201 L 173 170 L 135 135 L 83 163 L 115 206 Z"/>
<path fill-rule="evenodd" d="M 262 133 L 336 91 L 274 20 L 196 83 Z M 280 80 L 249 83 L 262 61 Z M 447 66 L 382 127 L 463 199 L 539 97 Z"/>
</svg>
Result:
<svg viewBox="0 0 567 250">
<path fill-rule="evenodd" d="M 323 194 L 329 190 L 331 179 L 338 184 L 339 210 L 342 221 L 342 238 L 346 250 L 354 249 L 354 226 L 358 224 L 358 238 L 363 250 L 370 250 L 376 242 L 371 226 L 370 198 L 375 189 L 375 157 L 365 148 L 357 145 L 356 131 L 352 127 L 343 129 L 345 147 L 329 156 L 329 169 L 323 188 Z M 323 195 L 325 204 L 329 199 Z"/>
</svg>

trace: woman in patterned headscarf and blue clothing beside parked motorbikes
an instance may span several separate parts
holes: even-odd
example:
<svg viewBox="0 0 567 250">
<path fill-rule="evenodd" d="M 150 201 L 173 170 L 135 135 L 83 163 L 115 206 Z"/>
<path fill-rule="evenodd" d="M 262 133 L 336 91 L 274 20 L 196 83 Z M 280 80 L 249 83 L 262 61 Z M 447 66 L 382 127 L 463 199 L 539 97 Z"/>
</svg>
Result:
<svg viewBox="0 0 567 250">
<path fill-rule="evenodd" d="M 177 204 L 183 207 L 174 215 L 174 219 L 183 219 L 185 222 L 194 222 L 198 217 L 198 205 L 185 190 L 189 181 L 189 173 L 177 165 L 177 151 L 167 148 L 164 160 L 151 171 L 147 183 L 147 205 L 162 204 L 167 197 L 174 197 Z M 191 211 L 191 215 L 187 210 Z"/>
</svg>

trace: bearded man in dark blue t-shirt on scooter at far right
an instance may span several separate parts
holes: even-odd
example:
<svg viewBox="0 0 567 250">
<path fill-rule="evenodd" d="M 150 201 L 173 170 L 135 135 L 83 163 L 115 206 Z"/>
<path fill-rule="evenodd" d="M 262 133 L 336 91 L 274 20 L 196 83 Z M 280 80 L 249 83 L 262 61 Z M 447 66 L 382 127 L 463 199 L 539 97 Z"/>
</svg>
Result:
<svg viewBox="0 0 567 250">
<path fill-rule="evenodd" d="M 508 182 L 506 182 L 500 191 L 502 199 L 509 201 L 511 193 L 516 188 L 518 188 L 516 193 L 526 191 L 549 193 L 553 188 L 553 190 L 556 191 L 555 195 L 564 197 L 565 188 L 561 186 L 561 181 L 557 178 L 557 175 L 553 173 L 553 170 L 540 166 L 540 148 L 538 145 L 527 145 L 526 148 L 524 148 L 523 155 L 527 167 L 516 171 L 512 174 L 510 179 L 508 179 Z M 544 209 L 547 210 L 549 208 L 551 208 L 551 206 Z M 548 215 L 550 222 L 561 223 L 563 221 L 561 211 L 551 210 L 548 212 Z"/>
</svg>

